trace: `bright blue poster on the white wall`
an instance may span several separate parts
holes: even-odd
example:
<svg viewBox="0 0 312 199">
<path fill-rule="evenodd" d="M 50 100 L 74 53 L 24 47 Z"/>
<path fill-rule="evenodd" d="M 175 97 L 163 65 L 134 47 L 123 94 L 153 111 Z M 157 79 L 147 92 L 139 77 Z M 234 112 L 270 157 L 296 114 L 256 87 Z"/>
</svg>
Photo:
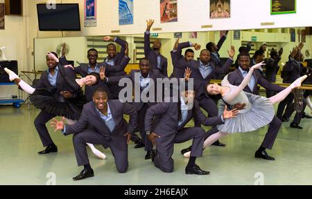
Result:
<svg viewBox="0 0 312 199">
<path fill-rule="evenodd" d="M 133 24 L 133 0 L 119 0 L 119 25 Z"/>
</svg>

